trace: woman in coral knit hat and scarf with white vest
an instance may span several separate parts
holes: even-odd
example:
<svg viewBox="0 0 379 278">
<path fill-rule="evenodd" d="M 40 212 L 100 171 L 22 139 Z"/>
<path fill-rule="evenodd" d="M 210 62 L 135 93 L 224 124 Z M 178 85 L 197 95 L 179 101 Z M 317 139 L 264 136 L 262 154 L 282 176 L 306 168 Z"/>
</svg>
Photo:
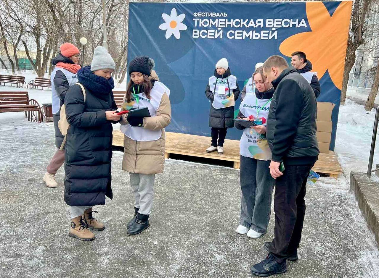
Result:
<svg viewBox="0 0 379 278">
<path fill-rule="evenodd" d="M 64 137 L 58 128 L 60 109 L 69 87 L 77 83 L 77 72 L 81 68 L 79 65 L 79 49 L 75 45 L 66 42 L 61 45 L 60 51 L 61 53 L 52 59 L 52 64 L 55 65 L 55 69 L 51 73 L 55 147 L 57 147 L 58 150 L 51 159 L 47 166 L 47 171 L 42 178 L 47 187 L 58 186 L 58 183 L 55 181 L 55 174 L 64 163 L 64 150 L 59 150 Z"/>
</svg>

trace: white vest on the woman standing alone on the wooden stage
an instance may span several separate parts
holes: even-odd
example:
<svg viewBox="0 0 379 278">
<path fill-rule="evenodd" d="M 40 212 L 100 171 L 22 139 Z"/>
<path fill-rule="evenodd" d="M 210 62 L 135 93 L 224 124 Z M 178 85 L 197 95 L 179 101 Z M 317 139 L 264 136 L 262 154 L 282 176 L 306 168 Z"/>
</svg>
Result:
<svg viewBox="0 0 379 278">
<path fill-rule="evenodd" d="M 237 78 L 234 75 L 229 75 L 224 79 L 211 76 L 209 78 L 209 89 L 215 96 L 212 103 L 213 108 L 220 109 L 234 106 L 235 103 L 233 90 L 236 88 Z M 221 91 L 224 92 L 224 94 L 220 94 L 222 93 Z"/>
</svg>

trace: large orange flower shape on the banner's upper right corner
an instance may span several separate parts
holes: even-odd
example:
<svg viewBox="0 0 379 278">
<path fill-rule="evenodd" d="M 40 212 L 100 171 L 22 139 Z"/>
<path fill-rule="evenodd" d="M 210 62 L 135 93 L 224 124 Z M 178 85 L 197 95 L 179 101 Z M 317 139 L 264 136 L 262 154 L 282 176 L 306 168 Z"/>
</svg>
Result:
<svg viewBox="0 0 379 278">
<path fill-rule="evenodd" d="M 330 16 L 323 2 L 305 4 L 312 31 L 295 34 L 285 39 L 279 47 L 285 56 L 302 51 L 312 62 L 312 71 L 321 79 L 328 70 L 334 85 L 342 88 L 343 69 L 351 14 L 351 1 L 342 1 Z"/>
</svg>

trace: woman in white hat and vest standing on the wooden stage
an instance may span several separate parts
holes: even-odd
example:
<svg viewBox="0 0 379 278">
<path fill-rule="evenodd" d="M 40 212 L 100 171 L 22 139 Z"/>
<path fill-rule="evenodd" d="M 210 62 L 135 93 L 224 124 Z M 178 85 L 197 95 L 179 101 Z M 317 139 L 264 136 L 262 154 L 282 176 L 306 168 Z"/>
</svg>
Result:
<svg viewBox="0 0 379 278">
<path fill-rule="evenodd" d="M 237 78 L 232 75 L 227 59 L 216 64 L 215 73 L 209 78 L 205 95 L 211 102 L 209 126 L 211 127 L 211 146 L 207 153 L 224 153 L 224 141 L 229 127 L 234 127 L 234 105 L 240 95 Z"/>
</svg>

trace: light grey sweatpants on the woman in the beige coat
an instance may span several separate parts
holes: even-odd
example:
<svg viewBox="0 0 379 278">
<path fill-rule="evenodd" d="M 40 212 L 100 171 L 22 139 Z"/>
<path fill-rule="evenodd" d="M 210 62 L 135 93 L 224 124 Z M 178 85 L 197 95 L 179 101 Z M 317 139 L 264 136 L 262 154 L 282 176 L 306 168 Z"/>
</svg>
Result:
<svg viewBox="0 0 379 278">
<path fill-rule="evenodd" d="M 132 193 L 134 196 L 134 206 L 139 208 L 138 213 L 144 215 L 151 214 L 153 207 L 153 186 L 155 175 L 154 174 L 130 174 L 130 185 L 132 186 Z"/>
</svg>

